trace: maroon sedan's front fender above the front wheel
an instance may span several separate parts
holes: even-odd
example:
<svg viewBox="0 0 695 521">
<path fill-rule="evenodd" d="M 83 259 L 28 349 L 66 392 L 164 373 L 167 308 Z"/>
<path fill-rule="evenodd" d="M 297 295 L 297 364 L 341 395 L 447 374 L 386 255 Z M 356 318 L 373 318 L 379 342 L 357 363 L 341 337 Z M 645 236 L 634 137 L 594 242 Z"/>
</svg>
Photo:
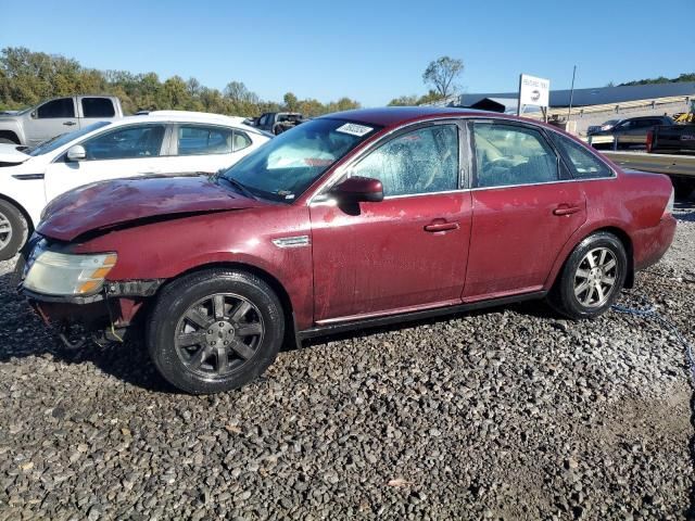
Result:
<svg viewBox="0 0 695 521">
<path fill-rule="evenodd" d="M 269 206 L 175 218 L 122 230 L 104 230 L 76 244 L 76 253 L 116 252 L 109 280 L 172 280 L 208 266 L 249 266 L 267 274 L 287 293 L 298 326 L 313 322 L 311 240 L 280 247 L 274 239 L 311 237 L 306 206 Z"/>
</svg>

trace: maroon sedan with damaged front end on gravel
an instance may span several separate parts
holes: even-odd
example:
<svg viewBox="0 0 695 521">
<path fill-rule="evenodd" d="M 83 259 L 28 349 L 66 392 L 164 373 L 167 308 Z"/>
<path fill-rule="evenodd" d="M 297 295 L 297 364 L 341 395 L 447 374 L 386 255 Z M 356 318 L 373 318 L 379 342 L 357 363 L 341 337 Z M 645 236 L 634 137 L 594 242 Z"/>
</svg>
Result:
<svg viewBox="0 0 695 521">
<path fill-rule="evenodd" d="M 672 202 L 667 177 L 545 125 L 364 110 L 300 125 L 212 178 L 62 195 L 17 274 L 68 342 L 140 323 L 169 382 L 213 393 L 326 332 L 541 297 L 595 317 L 667 251 Z"/>
</svg>

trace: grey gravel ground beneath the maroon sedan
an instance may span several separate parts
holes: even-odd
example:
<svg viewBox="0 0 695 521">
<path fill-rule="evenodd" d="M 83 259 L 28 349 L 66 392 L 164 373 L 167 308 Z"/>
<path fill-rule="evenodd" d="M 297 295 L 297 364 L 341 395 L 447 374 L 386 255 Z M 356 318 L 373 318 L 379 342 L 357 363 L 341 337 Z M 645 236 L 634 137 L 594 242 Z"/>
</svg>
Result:
<svg viewBox="0 0 695 521">
<path fill-rule="evenodd" d="M 695 204 L 636 290 L 693 341 Z M 532 303 L 314 341 L 212 397 L 62 350 L 0 263 L 0 520 L 682 519 L 683 350 Z M 628 302 L 627 300 L 624 302 Z"/>
</svg>

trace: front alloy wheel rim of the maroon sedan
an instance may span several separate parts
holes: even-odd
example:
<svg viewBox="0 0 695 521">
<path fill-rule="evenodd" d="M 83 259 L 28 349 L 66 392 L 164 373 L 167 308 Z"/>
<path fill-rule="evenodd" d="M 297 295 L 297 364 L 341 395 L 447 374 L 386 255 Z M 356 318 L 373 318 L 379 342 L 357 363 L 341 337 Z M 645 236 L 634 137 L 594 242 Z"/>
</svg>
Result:
<svg viewBox="0 0 695 521">
<path fill-rule="evenodd" d="M 203 378 L 240 369 L 255 355 L 265 327 L 258 308 L 232 293 L 206 296 L 190 306 L 176 327 L 176 353 Z"/>
</svg>

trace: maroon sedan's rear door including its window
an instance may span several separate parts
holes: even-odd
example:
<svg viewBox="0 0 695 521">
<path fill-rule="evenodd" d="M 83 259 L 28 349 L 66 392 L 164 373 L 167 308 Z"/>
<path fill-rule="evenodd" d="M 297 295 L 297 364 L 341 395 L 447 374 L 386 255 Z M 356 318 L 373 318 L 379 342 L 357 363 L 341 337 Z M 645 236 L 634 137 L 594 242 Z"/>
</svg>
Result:
<svg viewBox="0 0 695 521">
<path fill-rule="evenodd" d="M 472 231 L 464 301 L 542 290 L 586 219 L 585 195 L 538 127 L 471 123 Z"/>
</svg>

